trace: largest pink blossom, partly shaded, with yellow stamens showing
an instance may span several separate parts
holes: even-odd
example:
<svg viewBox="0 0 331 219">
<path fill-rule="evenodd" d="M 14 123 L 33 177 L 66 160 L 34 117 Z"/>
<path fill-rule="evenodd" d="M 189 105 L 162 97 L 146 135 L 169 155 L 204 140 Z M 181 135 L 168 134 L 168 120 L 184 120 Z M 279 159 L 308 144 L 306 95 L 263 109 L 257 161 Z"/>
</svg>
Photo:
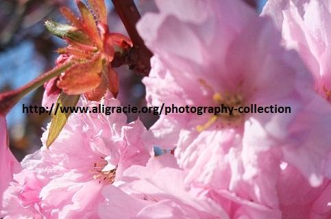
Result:
<svg viewBox="0 0 331 219">
<path fill-rule="evenodd" d="M 241 1 L 156 3 L 160 12 L 137 26 L 154 53 L 143 79 L 149 105 L 291 107 L 291 114 L 162 115 L 147 138 L 176 147 L 185 182 L 267 209 L 279 207 L 274 188 L 282 161 L 321 185 L 330 159 L 330 105 L 315 93 L 297 53 L 280 47 L 269 18 Z"/>
</svg>

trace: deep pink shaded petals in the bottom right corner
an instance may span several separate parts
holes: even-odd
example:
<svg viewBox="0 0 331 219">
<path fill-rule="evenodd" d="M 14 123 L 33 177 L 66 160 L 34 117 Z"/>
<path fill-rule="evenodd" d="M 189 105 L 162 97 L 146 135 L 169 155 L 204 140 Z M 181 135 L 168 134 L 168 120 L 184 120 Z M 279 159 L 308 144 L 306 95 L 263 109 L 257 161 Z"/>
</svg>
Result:
<svg viewBox="0 0 331 219">
<path fill-rule="evenodd" d="M 276 190 L 282 218 L 331 218 L 331 181 L 312 188 L 293 166 L 283 163 L 281 167 Z"/>
</svg>

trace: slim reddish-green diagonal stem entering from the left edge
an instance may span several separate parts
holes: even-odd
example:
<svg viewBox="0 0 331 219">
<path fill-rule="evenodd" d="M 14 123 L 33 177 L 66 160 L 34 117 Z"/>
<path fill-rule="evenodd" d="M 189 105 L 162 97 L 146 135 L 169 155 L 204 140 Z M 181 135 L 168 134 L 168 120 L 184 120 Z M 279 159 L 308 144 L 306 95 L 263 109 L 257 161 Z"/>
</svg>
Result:
<svg viewBox="0 0 331 219">
<path fill-rule="evenodd" d="M 64 72 L 66 69 L 70 68 L 73 65 L 73 62 L 67 62 L 62 66 L 58 66 L 49 70 L 49 72 L 40 75 L 33 81 L 25 84 L 25 86 L 18 88 L 16 90 L 10 90 L 8 92 L 3 92 L 0 94 L 0 115 L 5 116 L 8 112 L 19 102 L 23 96 L 32 92 L 36 88 L 42 86 L 46 81 L 49 81 L 53 77 L 58 77 L 60 73 Z"/>
</svg>

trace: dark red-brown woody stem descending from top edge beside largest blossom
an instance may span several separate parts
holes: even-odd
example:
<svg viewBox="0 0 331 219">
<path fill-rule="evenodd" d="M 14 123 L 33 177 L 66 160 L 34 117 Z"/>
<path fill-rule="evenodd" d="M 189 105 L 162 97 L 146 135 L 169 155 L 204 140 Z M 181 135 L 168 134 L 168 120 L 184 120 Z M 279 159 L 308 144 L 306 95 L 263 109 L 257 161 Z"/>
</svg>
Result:
<svg viewBox="0 0 331 219">
<path fill-rule="evenodd" d="M 134 44 L 127 58 L 130 68 L 147 76 L 151 70 L 149 60 L 153 53 L 147 49 L 136 29 L 136 23 L 140 19 L 138 9 L 133 0 L 112 0 L 112 3 Z"/>
</svg>

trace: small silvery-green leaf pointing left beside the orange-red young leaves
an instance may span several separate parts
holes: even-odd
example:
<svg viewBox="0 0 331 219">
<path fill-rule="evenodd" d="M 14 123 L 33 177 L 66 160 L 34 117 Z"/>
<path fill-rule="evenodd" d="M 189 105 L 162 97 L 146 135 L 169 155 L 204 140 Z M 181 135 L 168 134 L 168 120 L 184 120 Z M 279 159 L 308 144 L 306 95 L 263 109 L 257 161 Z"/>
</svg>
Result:
<svg viewBox="0 0 331 219">
<path fill-rule="evenodd" d="M 45 21 L 45 26 L 48 31 L 51 32 L 51 34 L 59 38 L 70 38 L 76 42 L 91 44 L 90 39 L 88 36 L 86 36 L 86 34 L 71 25 L 65 25 L 55 21 L 47 20 Z"/>
</svg>

